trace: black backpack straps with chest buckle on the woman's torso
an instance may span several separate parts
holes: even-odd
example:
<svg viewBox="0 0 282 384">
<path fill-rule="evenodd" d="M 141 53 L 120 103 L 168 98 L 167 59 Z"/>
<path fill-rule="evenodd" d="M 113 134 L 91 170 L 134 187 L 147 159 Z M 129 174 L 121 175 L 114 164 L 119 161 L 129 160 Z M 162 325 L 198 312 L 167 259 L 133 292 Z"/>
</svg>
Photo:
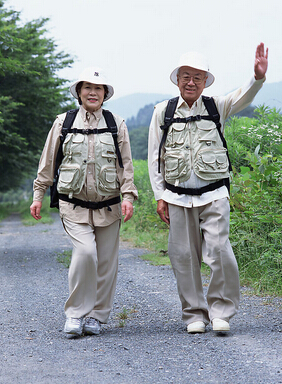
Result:
<svg viewBox="0 0 282 384">
<path fill-rule="evenodd" d="M 123 168 L 123 163 L 122 163 L 122 158 L 120 154 L 120 150 L 118 147 L 118 141 L 117 141 L 117 125 L 116 121 L 114 119 L 113 114 L 106 110 L 103 109 L 102 113 L 103 116 L 106 120 L 107 128 L 102 128 L 102 129 L 78 129 L 74 128 L 71 129 L 74 119 L 77 115 L 78 109 L 71 109 L 70 111 L 67 112 L 65 120 L 63 122 L 63 127 L 62 127 L 62 132 L 60 136 L 60 146 L 57 152 L 56 156 L 56 163 L 55 163 L 55 171 L 54 171 L 54 180 L 53 180 L 53 185 L 50 187 L 50 207 L 51 208 L 58 208 L 59 209 L 59 194 L 57 190 L 57 184 L 59 180 L 59 167 L 62 163 L 63 160 L 63 143 L 65 141 L 65 138 L 67 134 L 71 131 L 72 133 L 82 133 L 84 135 L 89 135 L 89 134 L 99 134 L 99 133 L 105 133 L 105 132 L 111 132 L 115 144 L 115 149 L 116 149 L 116 154 L 118 157 L 118 162 L 120 168 Z"/>
</svg>

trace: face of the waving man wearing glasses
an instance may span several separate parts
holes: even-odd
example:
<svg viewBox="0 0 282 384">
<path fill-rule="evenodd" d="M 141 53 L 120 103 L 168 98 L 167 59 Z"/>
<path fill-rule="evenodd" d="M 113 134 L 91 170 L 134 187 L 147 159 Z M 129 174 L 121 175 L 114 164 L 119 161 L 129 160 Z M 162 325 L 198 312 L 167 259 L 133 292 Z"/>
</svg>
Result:
<svg viewBox="0 0 282 384">
<path fill-rule="evenodd" d="M 177 75 L 177 85 L 182 98 L 191 108 L 201 96 L 207 80 L 205 71 L 191 67 L 181 67 Z"/>
</svg>

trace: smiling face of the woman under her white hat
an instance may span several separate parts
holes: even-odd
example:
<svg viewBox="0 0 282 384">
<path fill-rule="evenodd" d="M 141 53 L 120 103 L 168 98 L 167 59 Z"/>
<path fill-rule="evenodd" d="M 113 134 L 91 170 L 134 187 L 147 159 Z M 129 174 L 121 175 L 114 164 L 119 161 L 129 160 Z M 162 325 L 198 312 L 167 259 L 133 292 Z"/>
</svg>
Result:
<svg viewBox="0 0 282 384">
<path fill-rule="evenodd" d="M 95 112 L 101 108 L 105 96 L 105 88 L 101 84 L 83 82 L 79 97 L 84 109 L 88 112 Z"/>
</svg>

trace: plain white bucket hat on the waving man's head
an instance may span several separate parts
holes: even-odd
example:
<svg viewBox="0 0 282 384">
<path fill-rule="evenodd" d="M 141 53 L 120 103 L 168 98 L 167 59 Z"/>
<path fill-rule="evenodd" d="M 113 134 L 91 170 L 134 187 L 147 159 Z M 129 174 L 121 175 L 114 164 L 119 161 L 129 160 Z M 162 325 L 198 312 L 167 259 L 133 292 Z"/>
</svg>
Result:
<svg viewBox="0 0 282 384">
<path fill-rule="evenodd" d="M 170 75 L 170 80 L 175 85 L 177 85 L 177 74 L 180 67 L 191 67 L 205 71 L 208 76 L 205 88 L 209 87 L 214 82 L 215 77 L 212 73 L 209 72 L 207 59 L 198 52 L 187 52 L 180 57 L 178 67 L 175 68 Z"/>
</svg>

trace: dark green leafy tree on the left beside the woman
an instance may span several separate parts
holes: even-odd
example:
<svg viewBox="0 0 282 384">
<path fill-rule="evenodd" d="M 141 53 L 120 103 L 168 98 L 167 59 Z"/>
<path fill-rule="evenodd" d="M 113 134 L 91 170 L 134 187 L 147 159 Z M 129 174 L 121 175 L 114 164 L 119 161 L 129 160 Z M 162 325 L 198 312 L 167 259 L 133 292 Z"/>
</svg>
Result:
<svg viewBox="0 0 282 384">
<path fill-rule="evenodd" d="M 46 38 L 49 19 L 20 23 L 0 0 L 0 191 L 18 187 L 38 163 L 58 113 L 69 109 L 66 79 L 58 70 L 73 59 Z M 71 104 L 73 107 L 73 103 Z"/>
</svg>

